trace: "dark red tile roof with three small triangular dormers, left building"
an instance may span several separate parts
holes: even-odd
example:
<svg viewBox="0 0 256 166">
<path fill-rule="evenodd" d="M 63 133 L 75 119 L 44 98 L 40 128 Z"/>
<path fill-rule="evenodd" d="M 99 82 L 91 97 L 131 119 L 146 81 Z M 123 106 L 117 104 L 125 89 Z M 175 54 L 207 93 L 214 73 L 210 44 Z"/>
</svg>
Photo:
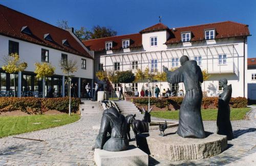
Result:
<svg viewBox="0 0 256 166">
<path fill-rule="evenodd" d="M 23 26 L 28 26 L 32 35 L 21 33 Z M 40 21 L 26 14 L 0 5 L 0 34 L 27 42 L 55 48 L 61 51 L 92 58 L 90 54 L 76 41 L 76 39 L 59 27 Z M 53 41 L 44 40 L 44 35 L 50 34 Z M 67 39 L 70 46 L 62 44 Z"/>
</svg>

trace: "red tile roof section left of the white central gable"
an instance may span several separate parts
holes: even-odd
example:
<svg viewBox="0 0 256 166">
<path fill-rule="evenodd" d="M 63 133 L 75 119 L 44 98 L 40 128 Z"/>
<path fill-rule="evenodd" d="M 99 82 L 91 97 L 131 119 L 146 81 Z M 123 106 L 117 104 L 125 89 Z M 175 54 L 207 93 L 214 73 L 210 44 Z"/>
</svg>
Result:
<svg viewBox="0 0 256 166">
<path fill-rule="evenodd" d="M 91 39 L 82 41 L 84 45 L 94 51 L 103 51 L 105 50 L 105 42 L 113 41 L 114 50 L 122 48 L 122 40 L 130 39 L 129 48 L 136 48 L 142 46 L 142 37 L 141 34 L 131 34 L 131 35 L 121 35 L 121 36 L 112 36 L 100 39 Z"/>
</svg>

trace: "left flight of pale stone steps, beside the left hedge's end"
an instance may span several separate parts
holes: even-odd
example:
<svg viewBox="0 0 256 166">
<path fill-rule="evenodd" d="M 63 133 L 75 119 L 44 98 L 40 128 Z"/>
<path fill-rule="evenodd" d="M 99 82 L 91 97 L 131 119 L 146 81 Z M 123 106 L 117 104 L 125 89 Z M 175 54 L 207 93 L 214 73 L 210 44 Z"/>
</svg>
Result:
<svg viewBox="0 0 256 166">
<path fill-rule="evenodd" d="M 82 114 L 98 114 L 102 115 L 103 107 L 100 102 L 91 101 L 91 100 L 81 100 L 80 110 Z"/>
</svg>

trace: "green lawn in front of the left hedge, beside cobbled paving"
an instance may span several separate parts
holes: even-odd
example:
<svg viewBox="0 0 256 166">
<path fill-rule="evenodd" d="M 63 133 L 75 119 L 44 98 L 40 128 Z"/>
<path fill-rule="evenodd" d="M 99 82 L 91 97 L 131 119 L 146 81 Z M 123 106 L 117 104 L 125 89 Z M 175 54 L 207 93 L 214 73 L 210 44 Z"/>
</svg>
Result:
<svg viewBox="0 0 256 166">
<path fill-rule="evenodd" d="M 0 138 L 76 122 L 80 115 L 31 115 L 0 117 Z M 33 124 L 36 123 L 36 124 Z M 40 123 L 40 124 L 39 124 Z"/>
</svg>

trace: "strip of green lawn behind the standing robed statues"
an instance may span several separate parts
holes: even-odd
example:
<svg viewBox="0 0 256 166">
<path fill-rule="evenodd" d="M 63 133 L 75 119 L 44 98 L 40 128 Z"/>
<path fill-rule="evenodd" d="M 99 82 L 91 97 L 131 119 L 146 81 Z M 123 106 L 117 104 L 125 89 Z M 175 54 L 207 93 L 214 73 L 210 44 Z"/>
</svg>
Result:
<svg viewBox="0 0 256 166">
<path fill-rule="evenodd" d="M 250 108 L 231 108 L 230 120 L 244 119 Z M 217 120 L 218 109 L 201 109 L 204 121 Z M 179 110 L 166 112 L 152 112 L 151 116 L 163 119 L 179 119 Z"/>
</svg>

